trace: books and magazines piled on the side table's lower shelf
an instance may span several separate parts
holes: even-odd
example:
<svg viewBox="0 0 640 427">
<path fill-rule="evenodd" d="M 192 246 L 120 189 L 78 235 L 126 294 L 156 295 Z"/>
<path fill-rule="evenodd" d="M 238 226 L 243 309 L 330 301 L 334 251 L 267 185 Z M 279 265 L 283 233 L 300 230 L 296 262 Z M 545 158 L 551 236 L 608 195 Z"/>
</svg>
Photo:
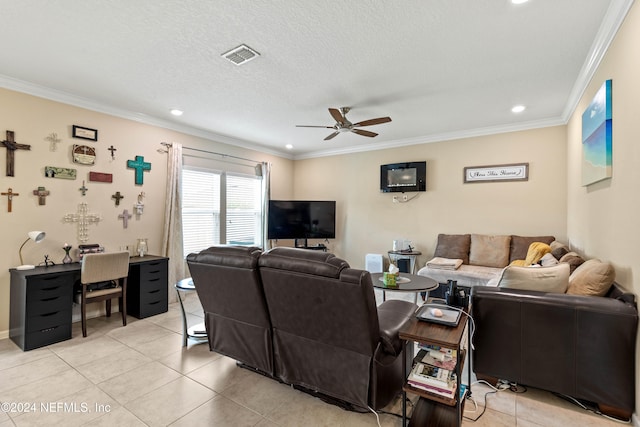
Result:
<svg viewBox="0 0 640 427">
<path fill-rule="evenodd" d="M 458 384 L 456 362 L 456 350 L 424 345 L 418 352 L 407 382 L 420 390 L 453 399 Z M 466 387 L 461 384 L 460 396 L 464 396 L 465 390 Z"/>
</svg>

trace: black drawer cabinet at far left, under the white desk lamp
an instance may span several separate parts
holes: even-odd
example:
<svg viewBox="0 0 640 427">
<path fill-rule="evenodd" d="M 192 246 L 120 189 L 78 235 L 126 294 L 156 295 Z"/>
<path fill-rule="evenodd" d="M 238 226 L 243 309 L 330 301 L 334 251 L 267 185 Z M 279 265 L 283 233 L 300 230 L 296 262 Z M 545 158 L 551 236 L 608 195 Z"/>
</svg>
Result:
<svg viewBox="0 0 640 427">
<path fill-rule="evenodd" d="M 11 270 L 9 337 L 22 350 L 71 338 L 73 284 L 77 268 L 65 265 Z"/>
</svg>

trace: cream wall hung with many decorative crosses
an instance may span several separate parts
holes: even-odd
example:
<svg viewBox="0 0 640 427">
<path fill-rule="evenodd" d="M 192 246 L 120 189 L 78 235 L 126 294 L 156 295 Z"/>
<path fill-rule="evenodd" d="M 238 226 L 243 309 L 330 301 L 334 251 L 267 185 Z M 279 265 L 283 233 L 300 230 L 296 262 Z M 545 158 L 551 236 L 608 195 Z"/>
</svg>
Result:
<svg viewBox="0 0 640 427">
<path fill-rule="evenodd" d="M 72 138 L 71 126 L 74 124 L 97 129 L 98 141 Z M 73 245 L 72 254 L 79 243 L 76 225 L 65 224 L 62 218 L 67 213 L 75 213 L 79 203 L 86 202 L 90 212 L 102 216 L 101 222 L 89 226 L 88 243 L 100 243 L 106 250 L 115 251 L 123 245 L 135 245 L 137 238 L 145 237 L 150 253 L 160 254 L 167 179 L 167 156 L 157 151 L 162 141 L 272 162 L 273 193 L 283 198 L 292 194 L 290 160 L 0 89 L 0 140 L 5 139 L 6 130 L 14 131 L 16 142 L 28 144 L 31 149 L 15 152 L 15 176 L 7 177 L 6 149 L 0 148 L 0 192 L 11 187 L 20 194 L 13 199 L 11 213 L 7 212 L 6 196 L 0 197 L 3 242 L 0 246 L 0 338 L 7 337 L 9 330 L 9 269 L 20 264 L 18 248 L 27 238 L 27 232 L 42 230 L 47 236 L 39 244 L 28 242 L 24 246 L 25 263 L 38 264 L 45 254 L 56 263 L 61 262 L 64 243 Z M 45 140 L 53 132 L 62 140 L 56 151 L 50 151 L 50 143 Z M 73 144 L 96 147 L 96 164 L 72 163 Z M 107 151 L 110 145 L 117 149 L 113 161 Z M 133 169 L 126 167 L 127 160 L 136 155 L 144 156 L 144 160 L 151 163 L 151 171 L 144 172 L 141 186 L 134 183 Z M 78 177 L 75 181 L 45 178 L 45 166 L 74 168 Z M 89 171 L 113 174 L 113 183 L 89 182 Z M 78 190 L 82 180 L 89 189 L 84 197 Z M 39 186 L 50 191 L 44 206 L 39 206 L 37 196 L 32 194 Z M 116 191 L 125 196 L 120 206 L 115 206 L 111 198 Z M 141 191 L 146 195 L 144 213 L 139 218 L 132 217 L 125 229 L 118 215 L 125 208 L 133 212 L 133 204 Z M 77 259 L 75 255 L 74 258 Z M 170 295 L 173 296 L 173 292 Z"/>
</svg>

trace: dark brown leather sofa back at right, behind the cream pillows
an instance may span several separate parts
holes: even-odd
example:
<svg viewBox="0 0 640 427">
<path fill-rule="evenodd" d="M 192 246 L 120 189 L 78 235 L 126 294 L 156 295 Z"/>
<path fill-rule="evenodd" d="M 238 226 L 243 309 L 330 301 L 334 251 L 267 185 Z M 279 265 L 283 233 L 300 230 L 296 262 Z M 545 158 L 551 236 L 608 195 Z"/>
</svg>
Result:
<svg viewBox="0 0 640 427">
<path fill-rule="evenodd" d="M 598 405 L 628 419 L 635 406 L 635 296 L 604 297 L 476 286 L 473 371 Z"/>
</svg>

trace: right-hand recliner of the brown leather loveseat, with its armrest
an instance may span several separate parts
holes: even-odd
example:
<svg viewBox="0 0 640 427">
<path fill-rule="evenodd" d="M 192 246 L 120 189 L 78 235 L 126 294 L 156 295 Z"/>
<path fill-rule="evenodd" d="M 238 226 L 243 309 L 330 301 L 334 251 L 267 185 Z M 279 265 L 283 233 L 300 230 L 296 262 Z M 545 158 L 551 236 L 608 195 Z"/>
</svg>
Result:
<svg viewBox="0 0 640 427">
<path fill-rule="evenodd" d="M 370 274 L 325 252 L 280 247 L 259 265 L 279 379 L 356 409 L 382 408 L 402 390 L 398 331 L 415 304 L 376 308 Z"/>
</svg>

